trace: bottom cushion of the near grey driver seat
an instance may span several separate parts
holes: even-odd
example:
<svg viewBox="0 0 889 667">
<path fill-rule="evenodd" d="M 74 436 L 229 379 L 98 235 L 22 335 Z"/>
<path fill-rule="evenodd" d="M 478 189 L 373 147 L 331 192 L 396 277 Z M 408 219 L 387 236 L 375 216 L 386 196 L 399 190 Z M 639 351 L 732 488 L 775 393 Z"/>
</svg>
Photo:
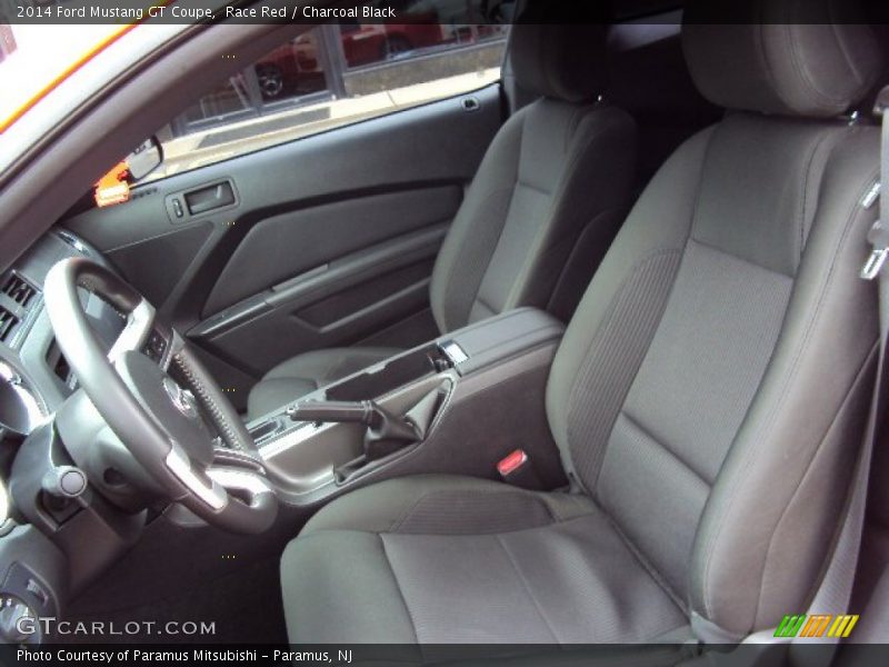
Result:
<svg viewBox="0 0 889 667">
<path fill-rule="evenodd" d="M 588 498 L 462 477 L 333 501 L 281 583 L 294 644 L 640 641 L 688 623 Z"/>
</svg>

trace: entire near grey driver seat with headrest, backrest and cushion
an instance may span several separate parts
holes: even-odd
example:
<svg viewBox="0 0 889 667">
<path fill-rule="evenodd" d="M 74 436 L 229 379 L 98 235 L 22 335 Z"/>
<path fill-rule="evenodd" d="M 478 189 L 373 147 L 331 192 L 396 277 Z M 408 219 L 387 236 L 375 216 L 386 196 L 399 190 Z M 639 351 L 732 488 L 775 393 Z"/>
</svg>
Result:
<svg viewBox="0 0 889 667">
<path fill-rule="evenodd" d="M 879 132 L 838 116 L 879 50 L 851 24 L 689 23 L 683 48 L 732 111 L 648 186 L 558 350 L 571 490 L 418 476 L 331 502 L 282 557 L 293 644 L 732 641 L 806 608 L 872 387 Z"/>
</svg>

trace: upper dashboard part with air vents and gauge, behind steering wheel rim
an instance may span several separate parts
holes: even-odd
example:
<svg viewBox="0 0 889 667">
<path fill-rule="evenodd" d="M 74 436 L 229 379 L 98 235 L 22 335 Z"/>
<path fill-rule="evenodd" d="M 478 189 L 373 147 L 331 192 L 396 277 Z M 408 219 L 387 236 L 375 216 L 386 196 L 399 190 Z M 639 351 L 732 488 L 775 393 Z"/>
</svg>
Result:
<svg viewBox="0 0 889 667">
<path fill-rule="evenodd" d="M 69 257 L 108 266 L 91 246 L 67 230 L 44 235 L 0 273 L 0 444 L 21 439 L 77 389 L 43 305 L 50 268 Z M 99 341 L 110 349 L 126 319 L 101 299 L 81 291 Z"/>
</svg>

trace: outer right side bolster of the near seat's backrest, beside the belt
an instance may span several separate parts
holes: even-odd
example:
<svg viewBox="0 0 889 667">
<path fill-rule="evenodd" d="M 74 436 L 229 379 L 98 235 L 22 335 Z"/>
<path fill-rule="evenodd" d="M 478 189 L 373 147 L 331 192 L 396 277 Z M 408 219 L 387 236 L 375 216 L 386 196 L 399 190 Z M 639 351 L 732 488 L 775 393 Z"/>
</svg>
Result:
<svg viewBox="0 0 889 667">
<path fill-rule="evenodd" d="M 878 153 L 879 131 L 860 127 L 831 155 L 780 338 L 698 528 L 693 609 L 737 635 L 806 608 L 842 515 L 878 338 L 858 277 Z"/>
</svg>

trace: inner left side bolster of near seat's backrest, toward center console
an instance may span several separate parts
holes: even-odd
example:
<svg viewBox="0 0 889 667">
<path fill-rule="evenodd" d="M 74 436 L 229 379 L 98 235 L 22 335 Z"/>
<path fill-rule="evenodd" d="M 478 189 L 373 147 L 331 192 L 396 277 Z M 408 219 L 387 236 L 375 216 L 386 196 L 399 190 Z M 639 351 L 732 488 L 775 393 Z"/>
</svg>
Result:
<svg viewBox="0 0 889 667">
<path fill-rule="evenodd" d="M 608 437 L 648 349 L 650 335 L 630 340 L 625 330 L 612 327 L 611 322 L 620 321 L 621 303 L 648 299 L 648 308 L 643 310 L 646 327 L 653 332 L 691 229 L 701 170 L 713 130 L 708 128 L 686 141 L 651 180 L 618 232 L 565 332 L 547 386 L 547 416 L 569 469 L 583 470 L 587 461 L 598 458 L 596 448 Z M 625 310 L 630 311 L 629 308 Z M 643 327 L 637 325 L 636 332 L 642 331 Z M 608 354 L 597 351 L 609 346 L 613 348 Z M 620 350 L 620 357 L 616 349 Z M 609 361 L 599 368 L 592 364 L 597 359 L 619 361 Z M 595 400 L 578 401 L 578 397 L 585 395 Z M 570 416 L 577 416 L 578 410 L 591 416 L 591 405 L 602 414 L 598 420 L 603 425 L 602 431 L 588 434 L 589 438 L 583 441 L 572 441 Z M 583 460 L 573 460 L 580 450 Z M 592 470 L 589 477 L 579 475 L 578 480 L 592 487 L 597 472 L 592 464 L 589 469 Z"/>
</svg>

